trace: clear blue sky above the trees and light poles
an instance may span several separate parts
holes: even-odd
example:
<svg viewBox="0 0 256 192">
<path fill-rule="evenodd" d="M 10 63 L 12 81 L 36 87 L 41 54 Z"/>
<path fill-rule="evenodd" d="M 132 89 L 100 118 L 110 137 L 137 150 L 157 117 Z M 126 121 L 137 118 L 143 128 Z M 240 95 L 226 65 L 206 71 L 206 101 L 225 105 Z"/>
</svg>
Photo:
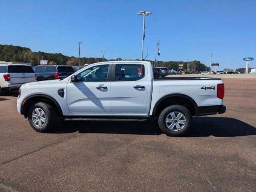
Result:
<svg viewBox="0 0 256 192">
<path fill-rule="evenodd" d="M 200 60 L 220 63 L 220 69 L 245 67 L 243 57 L 256 59 L 256 0 L 1 0 L 0 44 L 32 51 L 107 59 L 156 55 L 160 40 L 164 61 Z M 256 67 L 256 61 L 250 62 Z"/>
</svg>

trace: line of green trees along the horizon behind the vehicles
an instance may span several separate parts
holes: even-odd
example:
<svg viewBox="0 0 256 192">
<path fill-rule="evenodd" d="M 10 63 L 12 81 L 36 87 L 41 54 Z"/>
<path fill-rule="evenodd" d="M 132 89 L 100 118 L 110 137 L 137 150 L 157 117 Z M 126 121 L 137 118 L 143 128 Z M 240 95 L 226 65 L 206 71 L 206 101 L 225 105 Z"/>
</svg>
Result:
<svg viewBox="0 0 256 192">
<path fill-rule="evenodd" d="M 61 53 L 46 53 L 46 52 L 33 52 L 30 48 L 21 47 L 21 46 L 13 46 L 13 45 L 1 45 L 0 44 L 0 61 L 6 62 L 24 62 L 31 63 L 32 66 L 36 66 L 40 64 L 40 60 L 48 60 L 48 64 L 56 64 L 56 65 L 70 65 L 76 66 L 79 61 L 77 57 L 69 57 L 65 56 Z M 114 61 L 114 60 L 122 60 L 121 58 L 109 59 L 104 58 L 104 61 Z M 139 60 L 139 59 L 135 59 Z M 149 62 L 150 61 L 148 60 Z M 94 57 L 81 57 L 80 64 L 91 64 L 96 62 L 102 62 L 102 58 L 94 58 Z M 179 64 L 183 64 L 183 69 L 187 69 L 187 62 L 183 61 L 158 61 L 159 67 L 167 67 L 169 69 L 178 70 Z M 200 61 L 191 61 L 189 62 L 189 70 L 203 71 L 209 70 L 205 64 L 202 64 Z"/>
</svg>

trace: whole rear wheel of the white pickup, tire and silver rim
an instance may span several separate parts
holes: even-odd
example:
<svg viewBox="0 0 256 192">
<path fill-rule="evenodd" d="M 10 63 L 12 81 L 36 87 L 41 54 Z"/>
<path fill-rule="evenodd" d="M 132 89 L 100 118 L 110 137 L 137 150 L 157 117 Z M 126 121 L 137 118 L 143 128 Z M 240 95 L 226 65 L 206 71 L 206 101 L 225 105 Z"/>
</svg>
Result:
<svg viewBox="0 0 256 192">
<path fill-rule="evenodd" d="M 170 136 L 183 136 L 190 130 L 191 122 L 191 113 L 181 105 L 171 105 L 165 108 L 158 118 L 160 129 Z"/>
</svg>

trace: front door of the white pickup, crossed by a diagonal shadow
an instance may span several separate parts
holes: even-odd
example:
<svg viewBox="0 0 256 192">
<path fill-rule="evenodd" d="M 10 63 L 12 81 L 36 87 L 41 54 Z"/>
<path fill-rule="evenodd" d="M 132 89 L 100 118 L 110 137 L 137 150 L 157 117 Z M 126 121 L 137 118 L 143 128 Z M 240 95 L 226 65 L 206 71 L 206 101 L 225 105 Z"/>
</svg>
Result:
<svg viewBox="0 0 256 192">
<path fill-rule="evenodd" d="M 111 114 L 110 65 L 100 64 L 77 74 L 67 84 L 67 103 L 73 114 Z"/>
</svg>

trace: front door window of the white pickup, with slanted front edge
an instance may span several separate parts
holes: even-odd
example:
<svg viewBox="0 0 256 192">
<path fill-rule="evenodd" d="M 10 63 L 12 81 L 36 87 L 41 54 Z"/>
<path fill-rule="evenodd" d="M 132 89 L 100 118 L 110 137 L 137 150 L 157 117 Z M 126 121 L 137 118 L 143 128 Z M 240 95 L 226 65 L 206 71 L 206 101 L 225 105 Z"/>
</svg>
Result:
<svg viewBox="0 0 256 192">
<path fill-rule="evenodd" d="M 77 82 L 107 81 L 109 65 L 98 65 L 77 74 Z"/>
</svg>

